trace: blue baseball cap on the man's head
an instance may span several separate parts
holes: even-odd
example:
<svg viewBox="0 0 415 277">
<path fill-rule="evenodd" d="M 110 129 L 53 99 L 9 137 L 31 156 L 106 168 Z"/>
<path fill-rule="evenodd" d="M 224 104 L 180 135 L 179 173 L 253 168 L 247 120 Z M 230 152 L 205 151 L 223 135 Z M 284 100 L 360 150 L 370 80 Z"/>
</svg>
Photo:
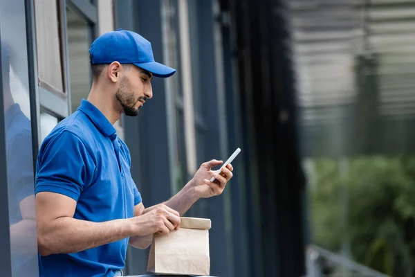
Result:
<svg viewBox="0 0 415 277">
<path fill-rule="evenodd" d="M 176 69 L 155 62 L 151 43 L 129 30 L 117 29 L 100 35 L 91 45 L 89 53 L 92 64 L 134 64 L 161 78 L 176 72 Z"/>
</svg>

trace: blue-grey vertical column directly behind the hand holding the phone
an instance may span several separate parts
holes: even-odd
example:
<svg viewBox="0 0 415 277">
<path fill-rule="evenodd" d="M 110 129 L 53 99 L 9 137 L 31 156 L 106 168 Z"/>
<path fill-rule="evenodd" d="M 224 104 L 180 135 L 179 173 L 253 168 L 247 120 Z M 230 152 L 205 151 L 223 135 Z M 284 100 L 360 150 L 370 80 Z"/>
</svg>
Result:
<svg viewBox="0 0 415 277">
<path fill-rule="evenodd" d="M 218 65 L 222 66 L 220 55 L 222 50 L 215 47 L 213 3 L 212 0 L 189 1 L 190 37 L 188 39 L 192 49 L 187 55 L 192 54 L 194 107 L 196 115 L 203 121 L 205 127 L 205 131 L 200 135 L 203 141 L 199 143 L 197 149 L 198 157 L 201 159 L 198 161 L 199 164 L 210 159 L 225 160 L 232 154 L 226 149 L 224 88 L 223 79 L 219 78 L 223 76 L 218 76 L 221 74 Z M 223 137 L 225 139 L 222 139 Z M 196 213 L 196 216 L 208 217 L 212 220 L 210 230 L 212 276 L 233 276 L 232 215 L 229 199 L 231 190 L 232 184 L 228 184 L 222 195 L 201 199 L 197 205 L 199 213 Z"/>
</svg>

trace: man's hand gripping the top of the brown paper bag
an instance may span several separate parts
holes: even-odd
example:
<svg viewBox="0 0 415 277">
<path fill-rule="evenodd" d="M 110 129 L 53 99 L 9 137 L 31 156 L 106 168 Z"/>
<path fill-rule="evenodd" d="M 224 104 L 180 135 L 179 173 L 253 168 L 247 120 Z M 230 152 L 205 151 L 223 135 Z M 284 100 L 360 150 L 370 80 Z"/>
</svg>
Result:
<svg viewBox="0 0 415 277">
<path fill-rule="evenodd" d="M 167 234 L 174 229 L 178 229 L 180 215 L 165 204 L 160 204 L 154 206 L 154 208 L 152 207 L 151 211 L 133 217 L 133 224 L 136 235 Z"/>
</svg>

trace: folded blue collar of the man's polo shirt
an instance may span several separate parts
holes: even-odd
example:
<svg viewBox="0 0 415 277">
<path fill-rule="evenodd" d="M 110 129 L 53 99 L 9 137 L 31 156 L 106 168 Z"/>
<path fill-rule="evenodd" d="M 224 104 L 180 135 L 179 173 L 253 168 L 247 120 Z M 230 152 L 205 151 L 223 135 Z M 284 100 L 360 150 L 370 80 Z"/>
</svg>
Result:
<svg viewBox="0 0 415 277">
<path fill-rule="evenodd" d="M 86 116 L 89 117 L 93 125 L 95 125 L 95 127 L 97 127 L 97 129 L 99 129 L 104 136 L 109 137 L 111 141 L 116 139 L 116 128 L 114 128 L 113 125 L 111 125 L 111 123 L 104 116 L 104 114 L 102 114 L 102 112 L 91 102 L 82 99 L 81 105 L 78 109 L 84 112 L 84 114 L 86 114 Z"/>
</svg>

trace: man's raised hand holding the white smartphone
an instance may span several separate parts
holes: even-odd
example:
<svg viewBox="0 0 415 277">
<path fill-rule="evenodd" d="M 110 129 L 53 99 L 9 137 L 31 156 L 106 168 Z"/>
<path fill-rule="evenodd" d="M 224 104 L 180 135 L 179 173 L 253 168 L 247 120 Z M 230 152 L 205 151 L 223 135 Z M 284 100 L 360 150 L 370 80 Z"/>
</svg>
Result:
<svg viewBox="0 0 415 277">
<path fill-rule="evenodd" d="M 219 174 L 212 171 L 214 166 L 219 166 L 223 161 L 208 161 L 202 163 L 199 170 L 194 175 L 192 182 L 196 195 L 201 198 L 208 198 L 215 195 L 220 195 L 225 189 L 226 183 L 232 178 L 232 165 L 228 164 Z M 210 179 L 214 177 L 213 182 Z"/>
</svg>

